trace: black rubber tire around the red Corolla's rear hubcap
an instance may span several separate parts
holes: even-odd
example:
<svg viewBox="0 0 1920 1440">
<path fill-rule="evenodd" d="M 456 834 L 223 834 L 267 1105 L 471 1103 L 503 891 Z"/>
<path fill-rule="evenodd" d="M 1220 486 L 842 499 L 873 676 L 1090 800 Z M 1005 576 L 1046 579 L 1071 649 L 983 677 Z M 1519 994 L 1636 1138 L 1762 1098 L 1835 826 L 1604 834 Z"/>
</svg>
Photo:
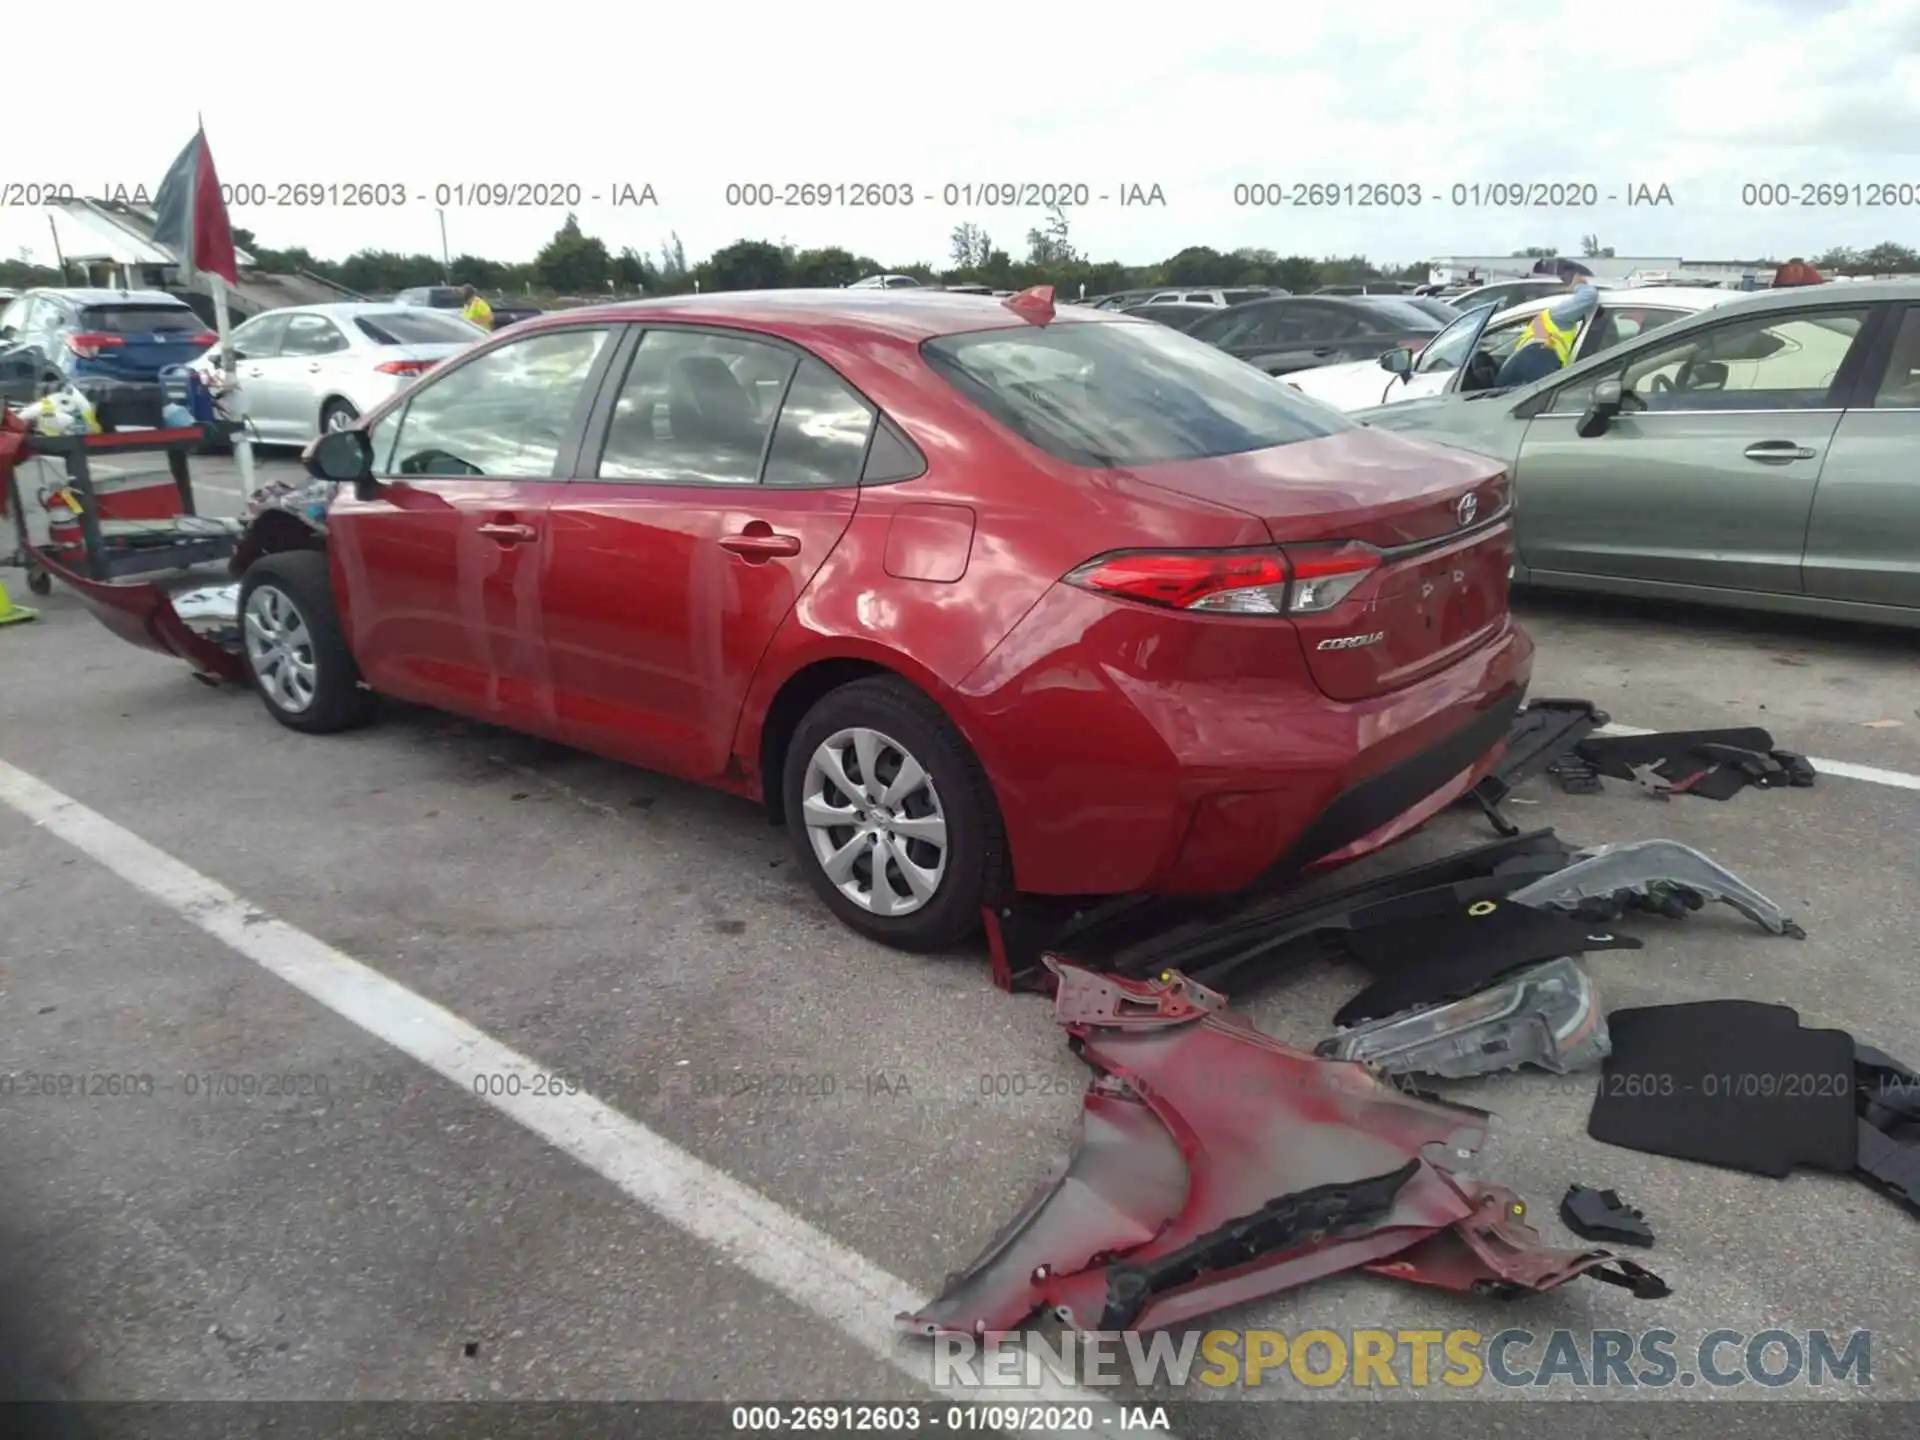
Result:
<svg viewBox="0 0 1920 1440">
<path fill-rule="evenodd" d="M 814 852 L 804 818 L 806 772 L 814 753 L 839 732 L 854 728 L 876 730 L 912 755 L 931 778 L 947 820 L 945 872 L 933 895 L 904 916 L 881 916 L 849 899 Z M 979 929 L 981 906 L 998 904 L 1012 887 L 1006 828 L 987 772 L 941 707 L 906 680 L 856 680 L 816 701 L 793 732 L 780 783 L 787 837 L 806 881 L 843 924 L 868 939 L 895 950 L 948 950 Z"/>
</svg>

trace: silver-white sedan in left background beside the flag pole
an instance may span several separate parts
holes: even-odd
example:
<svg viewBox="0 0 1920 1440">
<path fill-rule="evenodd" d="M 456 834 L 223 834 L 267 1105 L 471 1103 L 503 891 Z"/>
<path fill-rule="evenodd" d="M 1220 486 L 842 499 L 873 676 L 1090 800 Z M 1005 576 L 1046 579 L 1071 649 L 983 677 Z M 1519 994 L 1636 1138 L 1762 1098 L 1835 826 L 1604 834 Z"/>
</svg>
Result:
<svg viewBox="0 0 1920 1440">
<path fill-rule="evenodd" d="M 390 301 L 288 305 L 255 315 L 194 369 L 265 445 L 303 445 L 413 384 L 486 330 L 459 315 Z"/>
</svg>

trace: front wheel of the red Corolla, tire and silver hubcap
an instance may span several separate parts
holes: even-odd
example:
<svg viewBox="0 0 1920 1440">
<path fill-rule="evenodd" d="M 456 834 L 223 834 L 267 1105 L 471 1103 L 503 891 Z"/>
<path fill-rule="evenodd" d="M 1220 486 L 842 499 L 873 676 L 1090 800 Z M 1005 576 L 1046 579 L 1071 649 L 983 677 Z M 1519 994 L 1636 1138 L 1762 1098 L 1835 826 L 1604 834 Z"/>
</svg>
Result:
<svg viewBox="0 0 1920 1440">
<path fill-rule="evenodd" d="M 323 551 L 261 555 L 240 582 L 248 672 L 267 714 L 288 730 L 326 735 L 372 716 L 334 607 Z"/>
</svg>

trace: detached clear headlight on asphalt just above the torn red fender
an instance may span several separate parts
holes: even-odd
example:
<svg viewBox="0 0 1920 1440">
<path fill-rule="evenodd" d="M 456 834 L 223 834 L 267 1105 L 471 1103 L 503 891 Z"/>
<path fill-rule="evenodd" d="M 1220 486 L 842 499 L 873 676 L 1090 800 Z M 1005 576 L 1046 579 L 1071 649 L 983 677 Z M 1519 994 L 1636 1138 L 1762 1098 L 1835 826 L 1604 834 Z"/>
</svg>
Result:
<svg viewBox="0 0 1920 1440">
<path fill-rule="evenodd" d="M 1605 1060 L 1609 1037 L 1592 977 L 1559 958 L 1465 1000 L 1354 1025 L 1315 1052 L 1386 1075 L 1471 1079 L 1521 1066 L 1571 1075 Z"/>
</svg>

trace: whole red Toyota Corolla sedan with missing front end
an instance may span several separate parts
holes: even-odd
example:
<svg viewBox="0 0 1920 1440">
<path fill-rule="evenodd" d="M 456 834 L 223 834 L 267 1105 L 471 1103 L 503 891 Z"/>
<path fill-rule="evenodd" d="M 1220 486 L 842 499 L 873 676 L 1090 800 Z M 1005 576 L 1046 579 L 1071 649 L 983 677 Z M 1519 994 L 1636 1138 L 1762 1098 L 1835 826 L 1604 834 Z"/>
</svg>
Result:
<svg viewBox="0 0 1920 1440">
<path fill-rule="evenodd" d="M 309 465 L 324 534 L 244 551 L 278 720 L 384 693 L 764 801 L 900 948 L 1375 849 L 1532 655 L 1496 465 L 1046 292 L 547 315 Z"/>
</svg>

